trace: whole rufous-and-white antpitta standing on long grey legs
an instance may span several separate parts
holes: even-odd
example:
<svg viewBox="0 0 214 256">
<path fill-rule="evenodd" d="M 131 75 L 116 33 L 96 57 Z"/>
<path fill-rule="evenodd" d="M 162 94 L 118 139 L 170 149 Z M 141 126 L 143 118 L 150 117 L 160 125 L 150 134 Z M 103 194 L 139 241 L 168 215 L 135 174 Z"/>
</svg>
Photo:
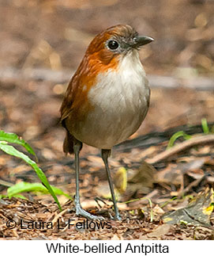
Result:
<svg viewBox="0 0 214 256">
<path fill-rule="evenodd" d="M 79 153 L 85 143 L 101 150 L 115 220 L 121 220 L 108 157 L 112 147 L 137 131 L 148 112 L 150 89 L 139 50 L 152 41 L 150 36 L 139 36 L 130 25 L 111 26 L 94 37 L 69 81 L 60 113 L 66 128 L 63 151 L 74 154 L 77 216 L 104 220 L 81 207 Z"/>
</svg>

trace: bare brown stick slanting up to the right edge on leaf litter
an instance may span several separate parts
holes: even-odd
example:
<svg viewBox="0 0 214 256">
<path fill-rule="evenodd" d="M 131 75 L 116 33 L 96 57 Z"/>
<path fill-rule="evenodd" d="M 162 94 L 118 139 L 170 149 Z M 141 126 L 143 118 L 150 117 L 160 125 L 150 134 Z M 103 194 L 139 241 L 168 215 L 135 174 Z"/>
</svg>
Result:
<svg viewBox="0 0 214 256">
<path fill-rule="evenodd" d="M 172 155 L 178 154 L 181 151 L 185 151 L 186 149 L 190 147 L 194 147 L 197 145 L 203 145 L 208 143 L 214 143 L 214 135 L 205 135 L 205 136 L 198 136 L 194 137 L 192 139 L 188 139 L 175 147 L 171 147 L 167 151 L 163 151 L 160 154 L 156 155 L 152 159 L 147 159 L 146 162 L 153 164 L 156 162 L 163 161 L 165 159 L 168 159 Z"/>
</svg>

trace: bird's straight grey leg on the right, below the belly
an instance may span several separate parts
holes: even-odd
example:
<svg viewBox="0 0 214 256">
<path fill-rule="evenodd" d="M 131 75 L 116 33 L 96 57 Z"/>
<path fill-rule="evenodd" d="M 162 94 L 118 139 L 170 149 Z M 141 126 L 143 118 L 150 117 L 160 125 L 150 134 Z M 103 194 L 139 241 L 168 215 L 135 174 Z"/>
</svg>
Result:
<svg viewBox="0 0 214 256">
<path fill-rule="evenodd" d="M 108 161 L 107 161 L 108 156 L 110 155 L 110 153 L 111 153 L 111 150 L 109 150 L 109 149 L 102 149 L 102 151 L 101 151 L 102 159 L 103 159 L 103 162 L 105 164 L 106 171 L 107 171 L 107 179 L 108 179 L 108 183 L 109 183 L 110 190 L 111 190 L 111 197 L 112 197 L 112 200 L 113 200 L 113 203 L 114 203 L 115 219 L 116 220 L 121 220 L 121 217 L 119 216 L 119 212 L 118 212 L 117 202 L 116 202 L 116 199 L 115 199 L 115 192 L 114 192 L 114 187 L 113 187 L 113 183 L 112 183 L 112 180 L 111 180 L 111 173 L 110 173 L 109 166 L 108 166 Z"/>
</svg>

